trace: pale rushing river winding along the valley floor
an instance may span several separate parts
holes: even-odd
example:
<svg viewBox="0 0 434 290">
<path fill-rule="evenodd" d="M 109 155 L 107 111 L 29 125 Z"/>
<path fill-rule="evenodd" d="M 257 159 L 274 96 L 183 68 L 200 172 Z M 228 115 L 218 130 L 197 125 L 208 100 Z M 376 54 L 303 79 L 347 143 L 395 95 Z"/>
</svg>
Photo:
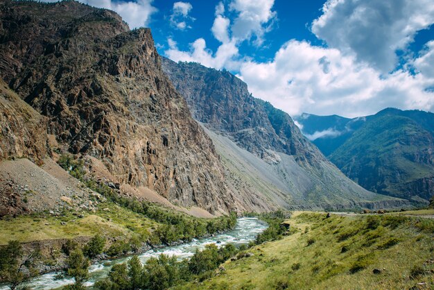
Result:
<svg viewBox="0 0 434 290">
<path fill-rule="evenodd" d="M 229 230 L 223 234 L 216 234 L 214 237 L 207 237 L 202 239 L 193 239 L 185 244 L 180 244 L 177 246 L 167 246 L 164 248 L 158 248 L 154 250 L 148 250 L 144 253 L 137 254 L 142 263 L 146 262 L 150 257 L 157 257 L 160 254 L 175 255 L 179 259 L 184 259 L 191 257 L 196 249 L 203 249 L 207 244 L 217 244 L 217 246 L 223 246 L 225 244 L 234 244 L 239 246 L 241 244 L 247 244 L 249 241 L 255 239 L 257 234 L 263 232 L 267 228 L 266 223 L 259 221 L 257 218 L 239 218 L 237 219 L 236 226 L 234 230 Z M 92 285 L 107 276 L 110 268 L 114 264 L 119 264 L 128 261 L 129 257 L 121 257 L 118 259 L 107 259 L 89 267 L 90 278 L 86 283 L 87 287 L 92 287 Z M 56 279 L 56 275 L 60 272 L 47 273 L 33 278 L 30 282 L 26 283 L 31 289 L 56 289 L 67 284 L 73 283 L 71 278 Z M 0 290 L 9 289 L 8 287 L 1 287 Z"/>
</svg>

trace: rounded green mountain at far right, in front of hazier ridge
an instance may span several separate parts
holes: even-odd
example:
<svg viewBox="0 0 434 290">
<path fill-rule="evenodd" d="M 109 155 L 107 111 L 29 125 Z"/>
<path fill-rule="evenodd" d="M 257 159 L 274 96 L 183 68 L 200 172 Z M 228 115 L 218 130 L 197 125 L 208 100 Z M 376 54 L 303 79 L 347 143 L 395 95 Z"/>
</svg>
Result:
<svg viewBox="0 0 434 290">
<path fill-rule="evenodd" d="M 381 112 L 329 157 L 368 190 L 401 198 L 433 195 L 433 135 L 417 121 Z"/>
</svg>

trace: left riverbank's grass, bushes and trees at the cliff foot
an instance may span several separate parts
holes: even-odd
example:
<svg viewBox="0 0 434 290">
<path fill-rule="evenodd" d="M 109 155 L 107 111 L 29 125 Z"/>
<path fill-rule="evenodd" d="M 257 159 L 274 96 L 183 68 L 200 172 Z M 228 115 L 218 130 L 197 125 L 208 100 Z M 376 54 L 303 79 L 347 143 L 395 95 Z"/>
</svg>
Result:
<svg viewBox="0 0 434 290">
<path fill-rule="evenodd" d="M 101 194 L 94 212 L 80 212 L 64 208 L 59 215 L 40 212 L 19 216 L 3 216 L 0 220 L 2 235 L 0 248 L 0 277 L 11 289 L 40 273 L 36 266 L 67 268 L 67 275 L 76 279 L 71 289 L 80 289 L 87 278 L 89 259 L 117 257 L 137 253 L 149 246 L 191 241 L 216 232 L 234 228 L 236 214 L 215 219 L 200 219 L 160 205 L 126 198 L 116 194 L 105 184 L 98 184 L 86 176 L 83 162 L 71 155 L 62 155 L 58 164 L 83 185 Z M 95 234 L 96 233 L 96 234 Z M 83 241 L 73 238 L 89 237 Z M 66 239 L 61 249 L 49 255 L 28 250 L 20 242 L 43 239 Z M 66 257 L 66 259 L 62 259 Z M 58 265 L 58 260 L 64 263 Z M 55 268 L 55 267 L 54 267 Z"/>
</svg>

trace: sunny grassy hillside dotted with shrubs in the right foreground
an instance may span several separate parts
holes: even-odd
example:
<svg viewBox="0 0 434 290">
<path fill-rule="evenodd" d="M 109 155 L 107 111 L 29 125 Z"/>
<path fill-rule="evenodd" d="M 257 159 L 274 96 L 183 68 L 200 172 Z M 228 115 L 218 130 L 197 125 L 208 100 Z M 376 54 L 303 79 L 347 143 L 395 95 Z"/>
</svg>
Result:
<svg viewBox="0 0 434 290">
<path fill-rule="evenodd" d="M 431 212 L 432 214 L 432 212 Z M 433 289 L 434 220 L 302 213 L 295 232 L 180 289 Z"/>
</svg>

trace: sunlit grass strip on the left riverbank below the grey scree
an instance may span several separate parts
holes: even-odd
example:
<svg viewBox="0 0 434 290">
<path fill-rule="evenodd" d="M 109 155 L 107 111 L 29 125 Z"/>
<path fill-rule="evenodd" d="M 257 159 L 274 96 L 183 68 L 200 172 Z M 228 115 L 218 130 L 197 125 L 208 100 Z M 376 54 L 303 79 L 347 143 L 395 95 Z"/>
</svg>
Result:
<svg viewBox="0 0 434 290">
<path fill-rule="evenodd" d="M 71 239 L 92 237 L 97 233 L 107 237 L 138 235 L 146 239 L 160 225 L 111 202 L 101 203 L 96 212 L 83 211 L 78 214 L 83 214 L 84 217 L 79 218 L 72 211 L 63 212 L 62 216 L 44 212 L 15 218 L 5 216 L 0 219 L 0 245 L 8 244 L 12 239 L 20 242 Z M 62 225 L 62 222 L 66 224 Z"/>
</svg>

